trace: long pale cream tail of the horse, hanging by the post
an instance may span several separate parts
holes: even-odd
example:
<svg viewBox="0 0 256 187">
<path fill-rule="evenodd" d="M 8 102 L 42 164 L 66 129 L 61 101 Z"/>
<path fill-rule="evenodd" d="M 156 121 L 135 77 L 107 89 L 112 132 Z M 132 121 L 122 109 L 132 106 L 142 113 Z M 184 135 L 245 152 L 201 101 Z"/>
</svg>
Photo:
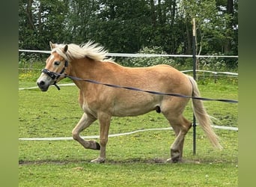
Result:
<svg viewBox="0 0 256 187">
<path fill-rule="evenodd" d="M 195 82 L 195 79 L 192 76 L 188 76 L 189 81 L 192 84 L 192 96 L 200 97 L 200 92 L 198 90 L 198 84 Z M 198 120 L 198 123 L 201 125 L 204 130 L 207 138 L 210 139 L 210 142 L 214 147 L 222 149 L 221 144 L 219 144 L 219 137 L 213 131 L 212 128 L 212 120 L 210 120 L 210 116 L 207 114 L 207 111 L 204 108 L 204 103 L 200 99 L 192 99 L 192 107 L 195 114 L 195 118 Z"/>
</svg>

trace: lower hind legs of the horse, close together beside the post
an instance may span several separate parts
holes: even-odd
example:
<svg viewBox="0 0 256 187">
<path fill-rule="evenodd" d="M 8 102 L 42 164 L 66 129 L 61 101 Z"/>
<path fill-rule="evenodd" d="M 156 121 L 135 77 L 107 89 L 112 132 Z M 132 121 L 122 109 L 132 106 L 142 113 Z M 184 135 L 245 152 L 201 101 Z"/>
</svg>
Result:
<svg viewBox="0 0 256 187">
<path fill-rule="evenodd" d="M 183 144 L 186 133 L 191 128 L 191 122 L 186 120 L 183 115 L 179 117 L 167 117 L 168 121 L 171 123 L 172 128 L 174 129 L 176 138 L 174 143 L 171 144 L 171 159 L 168 161 L 171 162 L 181 162 L 183 156 Z"/>
</svg>

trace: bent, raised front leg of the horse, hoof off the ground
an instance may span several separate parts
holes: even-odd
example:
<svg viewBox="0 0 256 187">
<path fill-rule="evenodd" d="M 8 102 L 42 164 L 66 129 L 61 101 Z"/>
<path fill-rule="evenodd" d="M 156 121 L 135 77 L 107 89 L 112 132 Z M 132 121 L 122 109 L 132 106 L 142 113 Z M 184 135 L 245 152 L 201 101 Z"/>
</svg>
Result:
<svg viewBox="0 0 256 187">
<path fill-rule="evenodd" d="M 95 117 L 84 113 L 79 120 L 79 123 L 77 123 L 76 127 L 72 131 L 73 139 L 82 144 L 85 149 L 100 150 L 100 144 L 98 144 L 96 141 L 85 141 L 79 135 L 82 130 L 90 126 L 95 120 L 97 120 Z"/>
</svg>

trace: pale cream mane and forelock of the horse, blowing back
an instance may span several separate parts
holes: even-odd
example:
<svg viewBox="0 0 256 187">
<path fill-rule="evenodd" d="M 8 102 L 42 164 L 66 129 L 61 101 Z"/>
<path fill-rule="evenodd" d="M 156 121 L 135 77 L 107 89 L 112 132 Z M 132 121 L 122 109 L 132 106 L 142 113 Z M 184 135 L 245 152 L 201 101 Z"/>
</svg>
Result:
<svg viewBox="0 0 256 187">
<path fill-rule="evenodd" d="M 67 45 L 68 48 L 66 53 L 62 51 L 64 46 L 65 44 L 55 44 L 55 48 L 52 49 L 52 52 L 57 52 L 67 61 L 85 58 L 85 56 L 94 59 L 95 61 L 103 61 L 107 55 L 107 51 L 103 46 L 100 46 L 98 43 L 93 43 L 92 41 L 88 41 L 88 43 L 84 43 L 80 46 L 70 43 Z"/>
</svg>

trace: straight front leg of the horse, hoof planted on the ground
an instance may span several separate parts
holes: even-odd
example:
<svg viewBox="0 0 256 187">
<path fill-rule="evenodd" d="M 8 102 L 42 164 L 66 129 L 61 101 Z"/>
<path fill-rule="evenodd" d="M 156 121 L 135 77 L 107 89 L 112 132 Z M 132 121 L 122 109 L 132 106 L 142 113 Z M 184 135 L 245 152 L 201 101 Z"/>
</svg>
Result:
<svg viewBox="0 0 256 187">
<path fill-rule="evenodd" d="M 98 114 L 98 118 L 100 121 L 100 156 L 91 162 L 103 163 L 106 160 L 106 144 L 108 143 L 111 116 L 104 113 Z"/>
</svg>

